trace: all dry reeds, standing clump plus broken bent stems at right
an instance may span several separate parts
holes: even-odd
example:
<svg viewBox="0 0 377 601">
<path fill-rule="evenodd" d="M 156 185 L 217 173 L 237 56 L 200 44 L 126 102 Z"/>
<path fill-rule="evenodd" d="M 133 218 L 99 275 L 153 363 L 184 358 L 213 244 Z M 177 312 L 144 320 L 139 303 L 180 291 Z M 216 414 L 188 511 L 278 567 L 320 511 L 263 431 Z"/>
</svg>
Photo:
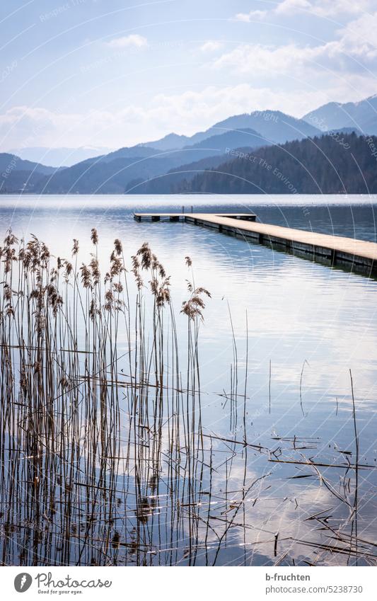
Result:
<svg viewBox="0 0 377 601">
<path fill-rule="evenodd" d="M 103 269 L 95 229 L 91 243 L 85 262 L 77 240 L 69 258 L 54 257 L 35 236 L 18 241 L 10 230 L 0 248 L 1 563 L 214 565 L 226 563 L 226 549 L 239 548 L 240 539 L 238 561 L 247 564 L 260 544 L 248 537 L 252 530 L 267 534 L 264 544 L 277 562 L 289 563 L 292 544 L 374 561 L 356 521 L 362 467 L 355 408 L 356 470 L 350 462 L 340 466 L 343 493 L 319 471 L 330 464 L 297 456 L 300 437 L 294 457 L 253 439 L 248 336 L 240 394 L 229 311 L 233 364 L 219 394 L 229 435 L 216 435 L 204 423 L 199 343 L 211 294 L 196 284 L 190 257 L 178 314 L 170 277 L 149 244 L 128 262 L 116 239 Z M 184 353 L 178 319 L 186 321 Z M 301 385 L 302 372 L 302 408 Z M 267 413 L 271 391 L 270 365 Z M 250 508 L 267 498 L 267 467 L 293 462 L 347 506 L 348 530 L 330 527 L 322 513 L 313 520 L 327 529 L 324 542 L 292 540 L 250 523 Z"/>
</svg>

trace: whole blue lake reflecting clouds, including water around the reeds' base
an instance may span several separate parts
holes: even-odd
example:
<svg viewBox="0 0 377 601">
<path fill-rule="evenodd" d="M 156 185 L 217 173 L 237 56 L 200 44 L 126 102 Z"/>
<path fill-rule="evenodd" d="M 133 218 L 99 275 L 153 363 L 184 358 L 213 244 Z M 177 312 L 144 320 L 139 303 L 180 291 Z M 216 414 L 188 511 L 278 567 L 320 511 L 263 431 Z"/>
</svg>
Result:
<svg viewBox="0 0 377 601">
<path fill-rule="evenodd" d="M 169 414 L 161 401 L 162 435 L 149 475 L 144 456 L 142 466 L 137 464 L 136 447 L 132 447 L 136 435 L 131 435 L 135 416 L 129 415 L 128 393 L 124 393 L 117 439 L 120 464 L 115 472 L 113 466 L 104 468 L 113 476 L 110 517 L 109 496 L 85 498 L 85 486 L 92 486 L 88 480 L 77 484 L 74 502 L 64 500 L 61 476 L 53 487 L 54 506 L 60 504 L 60 510 L 50 515 L 50 497 L 55 493 L 52 489 L 45 496 L 35 493 L 35 482 L 30 484 L 18 455 L 14 459 L 14 454 L 8 454 L 8 445 L 14 451 L 21 439 L 11 433 L 4 413 L 2 561 L 13 565 L 374 564 L 376 280 L 218 231 L 133 219 L 134 211 L 181 210 L 182 205 L 186 212 L 192 207 L 195 212 L 250 210 L 261 222 L 376 241 L 377 197 L 362 195 L 2 195 L 1 239 L 8 227 L 26 241 L 33 234 L 45 241 L 55 257 L 71 261 L 72 241 L 78 239 L 80 264 L 88 263 L 94 227 L 102 271 L 114 240 L 120 239 L 130 272 L 131 257 L 148 242 L 171 277 L 183 372 L 177 384 L 180 394 L 185 396 L 187 360 L 191 365 L 197 360 L 200 371 L 194 382 L 200 395 L 190 392 L 199 399 L 192 447 L 186 438 L 182 442 L 185 411 Z M 187 256 L 192 270 L 185 263 Z M 204 319 L 198 322 L 195 359 L 187 350 L 187 316 L 180 313 L 192 277 L 195 287 L 205 287 L 211 294 L 205 296 Z M 145 311 L 148 338 L 153 318 L 149 302 Z M 77 326 L 83 340 L 83 324 Z M 122 333 L 119 345 L 127 346 Z M 170 370 L 170 364 L 164 365 L 164 374 Z M 172 401 L 170 392 L 166 398 Z M 153 402 L 147 403 L 146 413 L 156 408 Z M 168 449 L 170 433 L 165 429 L 172 418 L 180 423 L 175 435 L 185 462 L 182 457 L 173 462 Z M 151 448 L 150 442 L 143 444 Z M 125 451 L 130 446 L 135 451 L 132 459 Z M 60 461 L 58 452 L 57 457 Z M 17 476 L 12 475 L 15 461 Z M 78 460 L 81 471 L 85 462 L 83 453 Z M 95 469 L 100 469 L 98 463 Z M 17 479 L 26 504 L 33 497 L 33 511 L 13 507 L 12 479 Z M 34 486 L 33 494 L 28 486 Z M 81 503 L 87 503 L 86 509 Z M 96 522 L 89 530 L 89 505 L 95 521 L 93 503 Z"/>
</svg>

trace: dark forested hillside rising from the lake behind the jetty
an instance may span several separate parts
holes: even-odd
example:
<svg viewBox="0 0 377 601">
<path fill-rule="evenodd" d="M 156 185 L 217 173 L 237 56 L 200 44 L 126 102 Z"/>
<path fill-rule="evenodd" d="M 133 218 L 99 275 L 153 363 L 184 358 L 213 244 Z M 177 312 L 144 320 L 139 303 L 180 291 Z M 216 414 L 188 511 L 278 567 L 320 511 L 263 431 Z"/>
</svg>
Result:
<svg viewBox="0 0 377 601">
<path fill-rule="evenodd" d="M 377 137 L 332 133 L 248 153 L 182 180 L 177 191 L 218 194 L 377 193 Z"/>
</svg>

